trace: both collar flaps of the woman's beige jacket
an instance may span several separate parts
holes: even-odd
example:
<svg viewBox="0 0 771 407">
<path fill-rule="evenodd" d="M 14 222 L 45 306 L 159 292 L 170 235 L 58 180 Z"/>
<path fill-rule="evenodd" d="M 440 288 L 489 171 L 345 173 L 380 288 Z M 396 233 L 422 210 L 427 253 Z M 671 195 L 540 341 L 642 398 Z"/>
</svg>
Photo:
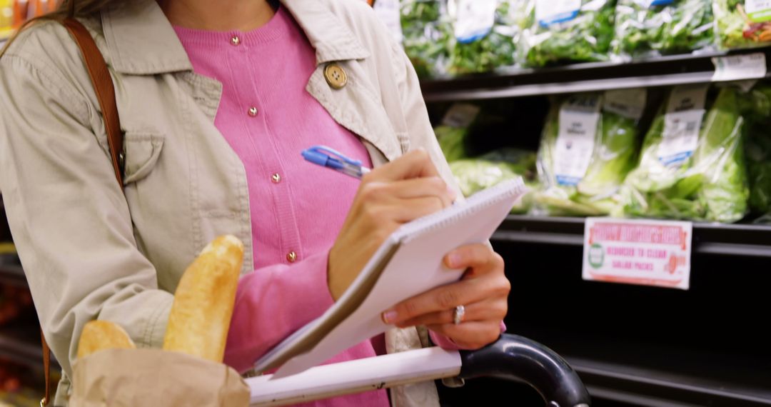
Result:
<svg viewBox="0 0 771 407">
<path fill-rule="evenodd" d="M 155 0 L 121 2 L 102 12 L 102 27 L 116 72 L 155 75 L 193 69 L 187 52 Z M 282 0 L 323 64 L 369 56 L 362 42 L 332 13 L 328 0 Z"/>
</svg>

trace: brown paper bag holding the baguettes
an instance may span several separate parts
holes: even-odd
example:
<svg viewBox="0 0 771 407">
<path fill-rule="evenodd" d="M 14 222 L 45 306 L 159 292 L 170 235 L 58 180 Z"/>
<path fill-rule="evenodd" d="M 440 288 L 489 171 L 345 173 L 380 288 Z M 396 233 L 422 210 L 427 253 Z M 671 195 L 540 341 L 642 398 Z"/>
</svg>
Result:
<svg viewBox="0 0 771 407">
<path fill-rule="evenodd" d="M 109 349 L 76 361 L 72 407 L 246 407 L 249 387 L 221 363 L 160 349 Z"/>
</svg>

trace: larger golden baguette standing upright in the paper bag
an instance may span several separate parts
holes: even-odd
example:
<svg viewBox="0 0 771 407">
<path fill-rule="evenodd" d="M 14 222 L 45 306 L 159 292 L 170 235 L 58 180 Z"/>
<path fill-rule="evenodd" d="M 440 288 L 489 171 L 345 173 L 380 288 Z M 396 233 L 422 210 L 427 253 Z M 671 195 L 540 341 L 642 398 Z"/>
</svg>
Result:
<svg viewBox="0 0 771 407">
<path fill-rule="evenodd" d="M 234 236 L 204 247 L 174 293 L 163 350 L 222 362 L 243 258 L 244 244 Z"/>
</svg>

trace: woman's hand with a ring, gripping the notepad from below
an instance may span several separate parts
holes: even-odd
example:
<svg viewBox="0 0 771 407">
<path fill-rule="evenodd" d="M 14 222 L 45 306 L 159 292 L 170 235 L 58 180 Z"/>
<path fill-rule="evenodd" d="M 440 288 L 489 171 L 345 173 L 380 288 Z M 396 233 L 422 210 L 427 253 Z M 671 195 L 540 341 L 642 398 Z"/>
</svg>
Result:
<svg viewBox="0 0 771 407">
<path fill-rule="evenodd" d="M 503 258 L 485 244 L 459 247 L 444 257 L 447 267 L 467 269 L 463 278 L 396 304 L 382 314 L 387 324 L 406 328 L 426 325 L 460 348 L 475 350 L 500 337 L 500 323 L 508 311 L 511 289 L 503 274 Z M 458 305 L 466 308 L 463 321 L 453 323 Z"/>
</svg>

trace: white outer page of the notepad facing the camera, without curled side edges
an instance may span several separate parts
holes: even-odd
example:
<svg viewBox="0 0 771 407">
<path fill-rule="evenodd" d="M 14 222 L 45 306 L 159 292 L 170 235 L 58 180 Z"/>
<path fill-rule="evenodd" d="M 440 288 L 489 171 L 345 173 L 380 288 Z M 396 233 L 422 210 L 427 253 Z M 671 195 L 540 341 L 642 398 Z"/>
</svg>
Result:
<svg viewBox="0 0 771 407">
<path fill-rule="evenodd" d="M 387 331 L 392 327 L 382 322 L 382 311 L 431 288 L 458 281 L 463 270 L 444 267 L 444 255 L 463 244 L 490 239 L 524 191 L 521 179 L 501 183 L 471 197 L 465 204 L 397 230 L 395 235 L 402 241 L 402 247 L 396 251 L 362 305 L 332 329 L 311 352 L 285 363 L 274 378 L 304 372 L 352 345 Z"/>
</svg>

